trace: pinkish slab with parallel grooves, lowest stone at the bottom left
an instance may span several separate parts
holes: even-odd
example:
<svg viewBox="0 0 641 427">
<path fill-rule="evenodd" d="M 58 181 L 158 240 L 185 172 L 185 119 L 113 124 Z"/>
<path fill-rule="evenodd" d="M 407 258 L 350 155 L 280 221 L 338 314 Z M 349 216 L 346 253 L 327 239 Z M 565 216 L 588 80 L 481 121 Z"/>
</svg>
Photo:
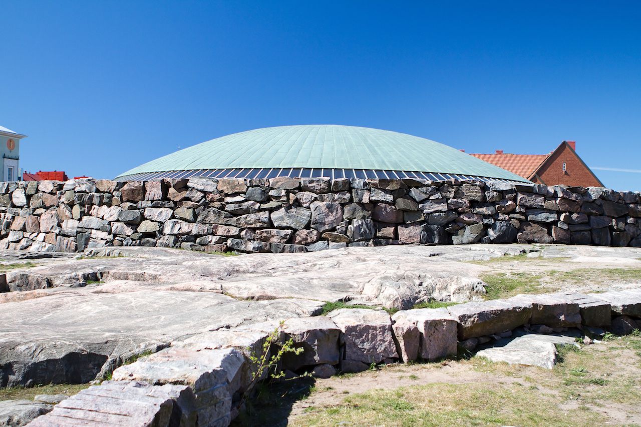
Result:
<svg viewBox="0 0 641 427">
<path fill-rule="evenodd" d="M 54 406 L 29 427 L 196 425 L 196 401 L 185 385 L 106 381 Z"/>
</svg>

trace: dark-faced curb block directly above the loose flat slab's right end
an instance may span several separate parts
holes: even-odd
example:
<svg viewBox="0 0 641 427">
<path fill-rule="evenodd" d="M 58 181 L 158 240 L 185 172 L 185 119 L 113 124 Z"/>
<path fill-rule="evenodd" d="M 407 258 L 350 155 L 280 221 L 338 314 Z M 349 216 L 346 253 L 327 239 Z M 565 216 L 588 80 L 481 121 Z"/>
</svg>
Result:
<svg viewBox="0 0 641 427">
<path fill-rule="evenodd" d="M 581 324 L 579 303 L 571 301 L 565 294 L 520 294 L 508 301 L 531 304 L 531 324 L 544 324 L 551 328 L 574 328 Z"/>
</svg>

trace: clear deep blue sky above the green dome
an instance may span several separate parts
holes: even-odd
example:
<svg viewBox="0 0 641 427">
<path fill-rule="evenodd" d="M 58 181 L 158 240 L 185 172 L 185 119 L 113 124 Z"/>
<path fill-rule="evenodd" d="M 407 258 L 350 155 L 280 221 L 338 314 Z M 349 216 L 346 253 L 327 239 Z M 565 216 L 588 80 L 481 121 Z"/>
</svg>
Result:
<svg viewBox="0 0 641 427">
<path fill-rule="evenodd" d="M 641 190 L 638 1 L 3 1 L 0 125 L 21 167 L 113 178 L 284 124 L 470 152 L 562 140 Z"/>
</svg>

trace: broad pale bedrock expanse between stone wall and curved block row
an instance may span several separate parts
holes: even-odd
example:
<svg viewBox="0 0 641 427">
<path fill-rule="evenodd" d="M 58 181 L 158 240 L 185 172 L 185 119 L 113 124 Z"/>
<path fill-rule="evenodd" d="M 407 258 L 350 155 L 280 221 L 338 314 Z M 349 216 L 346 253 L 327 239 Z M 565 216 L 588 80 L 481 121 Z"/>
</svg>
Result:
<svg viewBox="0 0 641 427">
<path fill-rule="evenodd" d="M 0 387 L 110 378 L 125 362 L 204 333 L 317 316 L 337 301 L 394 312 L 526 293 L 521 286 L 527 293 L 641 287 L 641 249 L 627 247 L 387 246 L 242 256 L 112 247 L 0 257 Z M 330 317 L 340 326 L 337 312 Z"/>
</svg>

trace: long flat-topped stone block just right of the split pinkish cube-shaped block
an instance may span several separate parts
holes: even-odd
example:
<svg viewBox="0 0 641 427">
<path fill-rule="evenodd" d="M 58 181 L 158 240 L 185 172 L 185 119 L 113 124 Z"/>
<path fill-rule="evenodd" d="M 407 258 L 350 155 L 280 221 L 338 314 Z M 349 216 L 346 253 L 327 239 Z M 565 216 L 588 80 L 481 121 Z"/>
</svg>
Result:
<svg viewBox="0 0 641 427">
<path fill-rule="evenodd" d="M 531 304 L 504 299 L 458 304 L 447 310 L 458 321 L 460 341 L 511 331 L 532 317 Z"/>
</svg>

